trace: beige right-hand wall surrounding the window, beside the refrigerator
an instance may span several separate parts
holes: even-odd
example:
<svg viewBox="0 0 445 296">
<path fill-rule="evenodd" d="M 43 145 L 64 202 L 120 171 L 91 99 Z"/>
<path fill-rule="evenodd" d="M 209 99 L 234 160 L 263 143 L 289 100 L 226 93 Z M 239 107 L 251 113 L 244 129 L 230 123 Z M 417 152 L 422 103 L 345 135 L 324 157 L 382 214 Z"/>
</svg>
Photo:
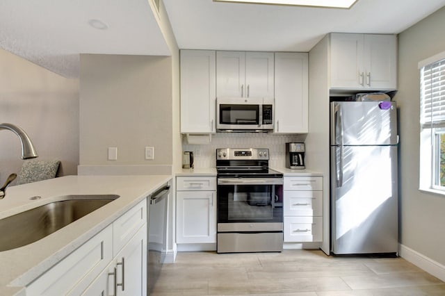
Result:
<svg viewBox="0 0 445 296">
<path fill-rule="evenodd" d="M 445 265 L 445 196 L 419 191 L 419 61 L 445 51 L 445 8 L 398 36 L 401 243 Z"/>
</svg>

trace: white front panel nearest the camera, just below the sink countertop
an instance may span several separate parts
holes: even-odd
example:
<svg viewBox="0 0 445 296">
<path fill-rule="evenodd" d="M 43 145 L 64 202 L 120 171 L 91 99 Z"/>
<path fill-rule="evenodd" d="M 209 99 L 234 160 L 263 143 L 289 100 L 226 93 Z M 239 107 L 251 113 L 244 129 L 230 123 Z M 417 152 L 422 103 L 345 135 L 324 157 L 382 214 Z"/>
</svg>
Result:
<svg viewBox="0 0 445 296">
<path fill-rule="evenodd" d="M 33 281 L 26 287 L 26 295 L 79 295 L 112 258 L 110 225 Z"/>
</svg>

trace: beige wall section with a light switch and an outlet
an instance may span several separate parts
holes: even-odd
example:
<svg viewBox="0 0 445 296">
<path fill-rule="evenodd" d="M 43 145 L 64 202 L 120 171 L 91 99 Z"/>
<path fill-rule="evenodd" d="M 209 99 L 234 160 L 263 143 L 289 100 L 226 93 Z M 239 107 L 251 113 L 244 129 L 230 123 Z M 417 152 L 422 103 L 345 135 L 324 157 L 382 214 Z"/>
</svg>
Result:
<svg viewBox="0 0 445 296">
<path fill-rule="evenodd" d="M 172 165 L 171 72 L 165 56 L 81 55 L 80 165 Z"/>
</svg>

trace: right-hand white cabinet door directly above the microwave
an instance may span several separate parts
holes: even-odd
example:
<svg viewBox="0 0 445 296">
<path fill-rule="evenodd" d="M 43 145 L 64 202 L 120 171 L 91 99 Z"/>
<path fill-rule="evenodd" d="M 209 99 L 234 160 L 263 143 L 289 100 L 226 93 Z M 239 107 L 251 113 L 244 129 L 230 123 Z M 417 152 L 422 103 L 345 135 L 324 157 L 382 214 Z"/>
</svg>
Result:
<svg viewBox="0 0 445 296">
<path fill-rule="evenodd" d="M 245 53 L 244 97 L 274 97 L 274 55 L 271 52 Z"/>
</svg>

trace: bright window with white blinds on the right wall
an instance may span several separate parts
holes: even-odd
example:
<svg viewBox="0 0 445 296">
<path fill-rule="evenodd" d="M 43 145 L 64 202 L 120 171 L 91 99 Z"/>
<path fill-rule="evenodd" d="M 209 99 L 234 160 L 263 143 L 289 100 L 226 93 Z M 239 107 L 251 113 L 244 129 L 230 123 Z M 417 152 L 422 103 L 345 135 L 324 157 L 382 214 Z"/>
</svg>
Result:
<svg viewBox="0 0 445 296">
<path fill-rule="evenodd" d="M 420 188 L 445 194 L 445 52 L 419 63 Z"/>
</svg>

